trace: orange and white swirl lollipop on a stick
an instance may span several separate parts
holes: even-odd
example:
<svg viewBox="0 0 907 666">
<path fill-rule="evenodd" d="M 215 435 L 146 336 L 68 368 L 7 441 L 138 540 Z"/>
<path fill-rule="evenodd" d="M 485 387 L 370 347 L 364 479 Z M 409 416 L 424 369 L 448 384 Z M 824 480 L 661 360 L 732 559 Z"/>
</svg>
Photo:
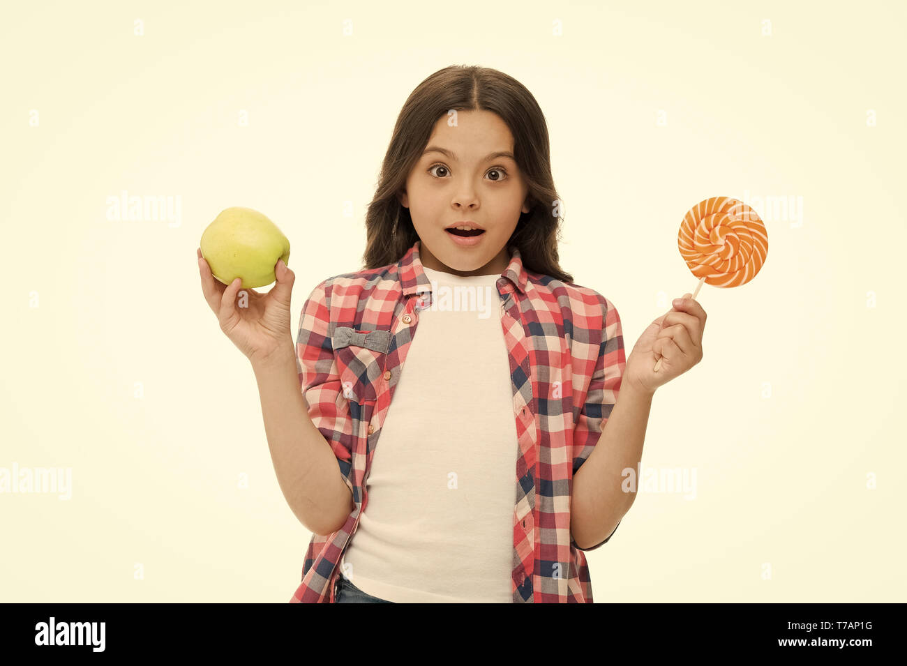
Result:
<svg viewBox="0 0 907 666">
<path fill-rule="evenodd" d="M 703 199 L 689 209 L 678 231 L 680 256 L 699 278 L 693 298 L 705 282 L 740 286 L 756 277 L 768 254 L 766 226 L 756 211 L 736 198 Z M 655 364 L 655 372 L 661 359 Z"/>
</svg>

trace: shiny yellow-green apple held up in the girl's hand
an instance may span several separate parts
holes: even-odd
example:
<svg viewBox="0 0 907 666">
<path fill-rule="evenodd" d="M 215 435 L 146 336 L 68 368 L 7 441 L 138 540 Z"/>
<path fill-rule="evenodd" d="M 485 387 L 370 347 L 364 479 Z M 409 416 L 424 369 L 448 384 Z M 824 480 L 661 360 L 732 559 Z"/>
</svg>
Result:
<svg viewBox="0 0 907 666">
<path fill-rule="evenodd" d="M 289 260 L 289 241 L 258 210 L 225 208 L 201 234 L 201 256 L 224 285 L 242 278 L 243 289 L 270 285 L 277 280 L 274 265 Z"/>
</svg>

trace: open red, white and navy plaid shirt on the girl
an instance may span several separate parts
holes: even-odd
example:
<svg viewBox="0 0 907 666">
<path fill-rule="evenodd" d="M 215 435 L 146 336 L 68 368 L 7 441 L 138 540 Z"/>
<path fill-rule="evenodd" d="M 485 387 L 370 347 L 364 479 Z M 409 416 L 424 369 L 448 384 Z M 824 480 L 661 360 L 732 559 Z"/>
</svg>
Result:
<svg viewBox="0 0 907 666">
<path fill-rule="evenodd" d="M 345 546 L 368 505 L 381 427 L 431 284 L 416 241 L 396 264 L 334 275 L 303 305 L 297 370 L 308 415 L 327 439 L 355 509 L 333 534 L 312 535 L 290 603 L 334 603 Z M 589 567 L 572 539 L 573 475 L 617 402 L 626 366 L 618 311 L 588 287 L 523 268 L 511 249 L 497 280 L 510 356 L 519 450 L 513 506 L 514 603 L 591 603 Z M 615 530 L 617 527 L 615 527 Z"/>
</svg>

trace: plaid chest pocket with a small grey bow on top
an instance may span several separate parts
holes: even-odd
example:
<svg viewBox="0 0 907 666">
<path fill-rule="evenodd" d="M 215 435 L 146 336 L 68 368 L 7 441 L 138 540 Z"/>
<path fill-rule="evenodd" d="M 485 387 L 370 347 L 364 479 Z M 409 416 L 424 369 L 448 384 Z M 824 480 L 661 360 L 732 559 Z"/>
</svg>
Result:
<svg viewBox="0 0 907 666">
<path fill-rule="evenodd" d="M 377 382 L 385 372 L 390 331 L 359 331 L 350 326 L 336 326 L 331 343 L 340 375 L 341 400 L 374 403 Z"/>
</svg>

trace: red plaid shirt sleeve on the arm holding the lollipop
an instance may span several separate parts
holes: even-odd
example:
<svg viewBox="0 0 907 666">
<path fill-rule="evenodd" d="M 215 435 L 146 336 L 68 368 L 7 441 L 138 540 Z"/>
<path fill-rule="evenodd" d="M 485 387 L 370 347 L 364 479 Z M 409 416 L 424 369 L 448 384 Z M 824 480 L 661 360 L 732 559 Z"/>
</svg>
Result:
<svg viewBox="0 0 907 666">
<path fill-rule="evenodd" d="M 572 456 L 574 475 L 582 466 L 582 463 L 589 458 L 592 449 L 599 442 L 601 431 L 604 430 L 611 410 L 618 401 L 620 380 L 623 378 L 624 369 L 627 367 L 623 332 L 620 328 L 620 316 L 617 308 L 602 295 L 599 295 L 599 300 L 602 307 L 602 331 L 604 334 L 599 345 L 599 357 L 595 364 L 595 371 L 592 372 L 589 391 L 586 392 L 586 400 L 580 409 L 580 417 L 573 428 Z M 614 533 L 617 532 L 619 526 L 620 523 L 618 522 L 610 535 L 600 544 L 589 548 L 580 548 L 573 541 L 572 536 L 571 544 L 577 550 L 595 550 L 601 545 L 607 544 L 611 536 L 614 536 Z"/>
</svg>

